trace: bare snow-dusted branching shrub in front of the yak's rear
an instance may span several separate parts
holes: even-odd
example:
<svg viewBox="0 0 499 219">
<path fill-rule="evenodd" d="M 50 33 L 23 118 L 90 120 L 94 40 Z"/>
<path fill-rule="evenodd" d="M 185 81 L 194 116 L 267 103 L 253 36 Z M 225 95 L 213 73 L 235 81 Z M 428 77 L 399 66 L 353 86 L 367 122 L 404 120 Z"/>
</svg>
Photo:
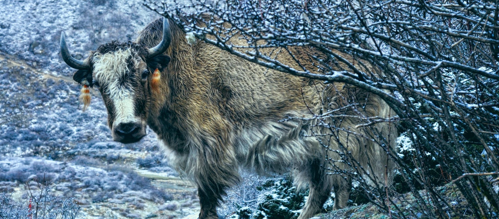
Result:
<svg viewBox="0 0 499 219">
<path fill-rule="evenodd" d="M 321 122 L 325 117 L 341 121 L 342 116 L 358 116 L 365 127 L 398 124 L 400 152 L 388 148 L 389 138 L 376 128 L 372 136 L 363 137 L 383 146 L 389 161 L 372 162 L 394 162 L 395 180 L 406 190 L 389 186 L 388 177 L 384 185 L 371 179 L 369 167 L 356 165 L 348 155 L 348 142 L 340 142 L 345 150 L 338 151 L 342 162 L 352 166 L 339 172 L 359 182 L 372 203 L 398 218 L 419 213 L 448 218 L 466 208 L 477 218 L 499 213 L 497 183 L 492 183 L 499 174 L 498 4 L 487 0 L 227 0 L 187 5 L 145 1 L 174 20 L 188 38 L 267 68 L 331 85 L 344 83 L 384 100 L 395 112 L 392 117 L 367 117 L 363 106 L 352 102 L 348 107 L 358 109 L 358 114 L 345 115 L 325 106 L 314 119 L 317 126 L 332 130 L 331 141 L 338 139 L 339 126 Z M 202 13 L 212 18 L 205 20 Z M 244 38 L 250 46 L 228 43 L 232 37 Z M 275 59 L 281 52 L 293 56 L 289 48 L 296 46 L 320 51 L 309 54 L 315 69 L 300 63 L 301 68 L 295 69 Z M 260 52 L 268 47 L 275 48 L 274 53 Z M 328 142 L 322 143 L 328 150 Z M 337 173 L 331 169 L 331 174 Z M 442 195 L 438 186 L 449 183 L 466 204 L 456 207 Z M 401 191 L 411 192 L 414 200 Z M 408 205 L 412 208 L 401 207 Z"/>
</svg>

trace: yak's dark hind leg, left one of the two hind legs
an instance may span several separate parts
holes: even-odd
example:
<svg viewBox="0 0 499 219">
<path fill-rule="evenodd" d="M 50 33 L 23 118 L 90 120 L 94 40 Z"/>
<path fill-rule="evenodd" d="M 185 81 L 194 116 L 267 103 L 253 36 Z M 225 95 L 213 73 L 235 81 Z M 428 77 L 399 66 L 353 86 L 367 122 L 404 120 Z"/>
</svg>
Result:
<svg viewBox="0 0 499 219">
<path fill-rule="evenodd" d="M 312 162 L 308 171 L 310 192 L 298 219 L 309 219 L 320 213 L 331 193 L 329 176 L 326 176 L 318 161 Z"/>
</svg>

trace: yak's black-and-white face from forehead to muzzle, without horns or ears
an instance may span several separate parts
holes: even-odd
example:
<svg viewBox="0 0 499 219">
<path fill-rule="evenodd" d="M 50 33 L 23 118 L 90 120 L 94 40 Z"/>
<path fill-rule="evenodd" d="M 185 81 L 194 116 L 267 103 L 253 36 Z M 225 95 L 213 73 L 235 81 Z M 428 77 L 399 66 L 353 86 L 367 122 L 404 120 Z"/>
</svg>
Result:
<svg viewBox="0 0 499 219">
<path fill-rule="evenodd" d="M 134 54 L 135 53 L 135 54 Z M 133 49 L 92 58 L 93 86 L 99 89 L 107 108 L 113 140 L 136 142 L 146 135 L 150 70 Z"/>
</svg>

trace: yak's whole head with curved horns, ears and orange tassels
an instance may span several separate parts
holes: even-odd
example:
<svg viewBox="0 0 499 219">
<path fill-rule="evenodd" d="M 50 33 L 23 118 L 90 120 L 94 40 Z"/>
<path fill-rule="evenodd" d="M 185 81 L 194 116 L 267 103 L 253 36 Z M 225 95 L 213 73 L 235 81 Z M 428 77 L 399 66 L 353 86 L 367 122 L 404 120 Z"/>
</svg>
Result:
<svg viewBox="0 0 499 219">
<path fill-rule="evenodd" d="M 164 19 L 163 40 L 157 46 L 147 48 L 135 42 L 113 41 L 99 46 L 90 52 L 88 59 L 81 61 L 71 57 L 61 33 L 62 58 L 67 65 L 78 69 L 73 79 L 84 86 L 82 95 L 88 95 L 88 87 L 100 91 L 113 140 L 133 143 L 146 135 L 150 97 L 155 79 L 170 61 L 169 56 L 163 55 L 170 40 L 170 26 Z M 159 71 L 155 72 L 156 69 Z"/>
</svg>

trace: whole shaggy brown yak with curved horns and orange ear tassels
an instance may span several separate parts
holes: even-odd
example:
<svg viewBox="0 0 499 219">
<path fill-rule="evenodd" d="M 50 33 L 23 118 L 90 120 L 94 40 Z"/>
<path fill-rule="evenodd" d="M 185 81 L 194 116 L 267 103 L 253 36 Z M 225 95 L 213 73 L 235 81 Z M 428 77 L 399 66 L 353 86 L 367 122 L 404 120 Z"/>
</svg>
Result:
<svg viewBox="0 0 499 219">
<path fill-rule="evenodd" d="M 319 213 L 333 189 L 334 209 L 344 208 L 351 178 L 341 171 L 352 166 L 365 167 L 371 180 L 385 184 L 392 165 L 387 147 L 379 144 L 394 149 L 396 130 L 386 122 L 372 125 L 377 131 L 357 126 L 359 113 L 390 117 L 379 97 L 342 83 L 267 69 L 201 40 L 190 44 L 185 36 L 165 18 L 150 23 L 135 42 L 102 44 L 83 61 L 71 57 L 63 33 L 60 46 L 64 61 L 78 69 L 73 79 L 84 87 L 84 107 L 88 88 L 100 91 L 115 141 L 137 142 L 147 125 L 156 132 L 170 164 L 198 186 L 200 219 L 218 218 L 225 190 L 240 182 L 240 167 L 258 173 L 291 171 L 298 188 L 308 185 L 299 219 Z M 232 39 L 233 44 L 246 43 Z M 309 55 L 322 53 L 305 46 L 288 49 L 301 65 L 317 69 Z M 300 69 L 287 52 L 276 59 Z M 354 102 L 358 108 L 349 107 Z M 341 116 L 323 116 L 335 114 Z M 356 161 L 342 162 L 345 154 Z"/>
</svg>

